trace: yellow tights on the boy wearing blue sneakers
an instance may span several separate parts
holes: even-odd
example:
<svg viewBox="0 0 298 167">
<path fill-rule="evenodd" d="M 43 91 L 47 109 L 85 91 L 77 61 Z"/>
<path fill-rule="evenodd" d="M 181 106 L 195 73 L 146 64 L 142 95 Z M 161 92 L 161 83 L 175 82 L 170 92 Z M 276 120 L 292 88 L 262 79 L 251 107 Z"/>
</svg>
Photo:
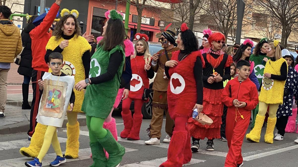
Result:
<svg viewBox="0 0 298 167">
<path fill-rule="evenodd" d="M 46 133 L 44 134 L 44 143 L 42 144 L 41 150 L 37 156 L 37 158 L 39 159 L 39 162 L 41 162 L 42 159 L 44 159 L 44 156 L 49 151 L 51 143 L 55 150 L 55 153 L 58 156 L 63 157 L 56 130 L 57 130 L 57 127 L 54 127 L 54 126 L 48 126 L 46 128 Z"/>
</svg>

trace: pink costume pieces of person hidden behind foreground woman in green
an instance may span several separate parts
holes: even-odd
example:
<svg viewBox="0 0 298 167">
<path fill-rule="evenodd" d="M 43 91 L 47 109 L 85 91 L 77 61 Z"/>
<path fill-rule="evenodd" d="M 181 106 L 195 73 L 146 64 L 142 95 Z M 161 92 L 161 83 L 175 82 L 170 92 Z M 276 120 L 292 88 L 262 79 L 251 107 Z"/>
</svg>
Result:
<svg viewBox="0 0 298 167">
<path fill-rule="evenodd" d="M 99 42 L 102 39 L 103 39 L 103 37 L 97 37 L 97 42 Z M 124 40 L 123 43 L 125 45 L 125 57 L 134 55 L 134 45 L 133 45 L 133 43 L 128 39 Z M 110 130 L 112 135 L 116 139 L 116 141 L 118 141 L 116 120 L 112 117 L 112 112 L 113 112 L 114 108 L 118 107 L 120 101 L 122 100 L 122 97 L 126 97 L 126 98 L 128 97 L 128 91 L 124 92 L 124 89 L 125 88 L 122 88 L 122 89 L 118 90 L 118 94 L 117 94 L 115 103 L 113 105 L 112 111 L 111 111 L 110 115 L 108 116 L 108 118 L 106 118 L 105 122 L 103 123 L 103 128 Z M 107 158 L 109 157 L 109 154 L 106 151 L 105 151 L 105 156 Z M 92 157 L 92 154 L 90 155 L 90 157 Z"/>
</svg>

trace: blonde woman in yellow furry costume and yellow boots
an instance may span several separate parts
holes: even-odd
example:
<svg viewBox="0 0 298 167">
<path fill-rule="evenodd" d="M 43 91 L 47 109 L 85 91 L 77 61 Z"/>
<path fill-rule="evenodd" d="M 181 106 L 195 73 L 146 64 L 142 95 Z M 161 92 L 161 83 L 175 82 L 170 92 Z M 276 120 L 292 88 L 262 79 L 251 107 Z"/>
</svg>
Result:
<svg viewBox="0 0 298 167">
<path fill-rule="evenodd" d="M 256 116 L 254 128 L 246 135 L 246 139 L 252 142 L 260 142 L 260 135 L 265 119 L 265 114 L 269 106 L 269 117 L 265 134 L 265 143 L 273 143 L 273 131 L 276 124 L 276 111 L 280 104 L 283 104 L 283 93 L 285 80 L 288 74 L 288 65 L 281 56 L 278 41 L 271 42 L 268 46 L 267 61 L 260 86 L 259 112 Z"/>
</svg>

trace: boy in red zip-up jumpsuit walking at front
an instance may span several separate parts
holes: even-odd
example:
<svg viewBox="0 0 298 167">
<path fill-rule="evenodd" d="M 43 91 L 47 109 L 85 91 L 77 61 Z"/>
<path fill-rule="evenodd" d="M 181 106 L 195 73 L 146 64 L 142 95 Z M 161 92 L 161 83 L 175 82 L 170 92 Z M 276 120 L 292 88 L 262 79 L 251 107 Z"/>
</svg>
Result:
<svg viewBox="0 0 298 167">
<path fill-rule="evenodd" d="M 226 115 L 226 138 L 229 152 L 225 167 L 243 166 L 241 147 L 249 125 L 251 110 L 259 103 L 256 85 L 250 81 L 250 63 L 237 62 L 238 77 L 229 81 L 221 94 L 221 101 L 228 107 Z"/>
</svg>

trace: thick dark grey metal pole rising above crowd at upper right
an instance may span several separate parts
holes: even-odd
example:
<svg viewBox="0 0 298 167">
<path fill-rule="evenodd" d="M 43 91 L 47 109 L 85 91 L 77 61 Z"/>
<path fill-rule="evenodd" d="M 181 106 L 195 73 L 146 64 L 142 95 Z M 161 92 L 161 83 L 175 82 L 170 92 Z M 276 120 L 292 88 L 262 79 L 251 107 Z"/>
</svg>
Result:
<svg viewBox="0 0 298 167">
<path fill-rule="evenodd" d="M 243 0 L 237 0 L 237 29 L 236 29 L 236 43 L 240 43 L 242 21 L 244 15 L 245 4 Z"/>
</svg>

